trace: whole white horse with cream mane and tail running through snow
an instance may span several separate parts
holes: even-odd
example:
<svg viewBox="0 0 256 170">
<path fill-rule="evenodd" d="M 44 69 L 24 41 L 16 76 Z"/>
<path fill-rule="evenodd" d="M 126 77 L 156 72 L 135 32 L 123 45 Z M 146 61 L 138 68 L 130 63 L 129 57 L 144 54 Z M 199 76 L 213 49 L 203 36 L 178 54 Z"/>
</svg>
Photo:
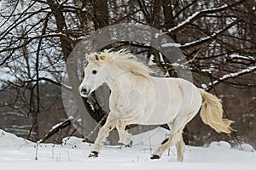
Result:
<svg viewBox="0 0 256 170">
<path fill-rule="evenodd" d="M 230 133 L 232 121 L 223 119 L 221 100 L 181 78 L 151 77 L 146 65 L 138 62 L 125 50 L 106 50 L 86 56 L 84 80 L 79 86 L 88 97 L 102 83 L 111 89 L 107 122 L 100 129 L 90 156 L 97 157 L 103 140 L 116 127 L 119 142 L 130 144 L 131 134 L 125 131 L 130 124 L 161 125 L 170 128 L 170 137 L 154 151 L 151 159 L 160 156 L 172 145 L 177 147 L 177 160 L 183 161 L 183 128 L 200 110 L 201 119 L 218 133 Z"/>
</svg>

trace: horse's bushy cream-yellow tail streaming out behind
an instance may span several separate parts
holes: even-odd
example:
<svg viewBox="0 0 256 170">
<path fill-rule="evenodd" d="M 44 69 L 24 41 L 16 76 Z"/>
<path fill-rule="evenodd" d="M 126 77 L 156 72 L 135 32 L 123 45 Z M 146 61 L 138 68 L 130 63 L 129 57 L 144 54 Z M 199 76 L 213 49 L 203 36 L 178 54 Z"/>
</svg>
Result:
<svg viewBox="0 0 256 170">
<path fill-rule="evenodd" d="M 200 116 L 204 123 L 210 125 L 216 132 L 231 133 L 233 130 L 230 124 L 233 122 L 229 119 L 223 119 L 223 108 L 221 99 L 215 95 L 207 93 L 199 88 L 202 97 Z"/>
</svg>

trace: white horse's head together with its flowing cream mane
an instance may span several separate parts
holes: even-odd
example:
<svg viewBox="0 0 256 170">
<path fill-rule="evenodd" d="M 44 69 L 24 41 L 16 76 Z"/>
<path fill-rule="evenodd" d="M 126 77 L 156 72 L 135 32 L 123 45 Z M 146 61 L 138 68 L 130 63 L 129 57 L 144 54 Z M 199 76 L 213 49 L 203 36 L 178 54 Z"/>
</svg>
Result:
<svg viewBox="0 0 256 170">
<path fill-rule="evenodd" d="M 109 49 L 100 53 L 92 53 L 86 55 L 86 59 L 88 65 L 84 69 L 84 80 L 79 86 L 79 93 L 84 97 L 88 97 L 104 82 L 108 82 L 110 86 L 113 80 L 122 78 L 122 82 L 125 78 L 131 78 L 125 77 L 127 73 L 149 79 L 149 73 L 154 72 L 138 62 L 136 57 L 127 53 L 125 49 L 119 51 Z"/>
</svg>

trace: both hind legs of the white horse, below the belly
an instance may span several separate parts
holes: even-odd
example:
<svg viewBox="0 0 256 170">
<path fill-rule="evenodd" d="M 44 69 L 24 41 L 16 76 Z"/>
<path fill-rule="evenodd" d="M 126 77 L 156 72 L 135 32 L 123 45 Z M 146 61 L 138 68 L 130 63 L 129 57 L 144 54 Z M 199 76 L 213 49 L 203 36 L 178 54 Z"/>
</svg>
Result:
<svg viewBox="0 0 256 170">
<path fill-rule="evenodd" d="M 167 142 L 165 144 L 160 145 L 160 147 L 154 151 L 154 154 L 151 157 L 151 159 L 160 159 L 160 156 L 162 156 L 165 150 L 170 148 L 172 145 L 177 144 L 179 148 L 179 150 L 177 150 L 178 156 L 180 156 L 178 160 L 183 161 L 183 153 L 181 153 L 181 151 L 183 151 L 183 144 L 180 142 L 182 140 L 182 133 L 183 127 L 177 130 L 176 133 L 172 133 Z"/>
</svg>

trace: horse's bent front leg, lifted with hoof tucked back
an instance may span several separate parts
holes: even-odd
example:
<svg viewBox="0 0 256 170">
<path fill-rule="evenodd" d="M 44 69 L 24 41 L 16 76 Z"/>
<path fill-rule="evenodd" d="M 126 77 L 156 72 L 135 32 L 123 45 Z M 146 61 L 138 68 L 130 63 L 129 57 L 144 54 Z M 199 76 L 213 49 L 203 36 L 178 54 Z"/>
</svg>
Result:
<svg viewBox="0 0 256 170">
<path fill-rule="evenodd" d="M 125 121 L 118 121 L 116 128 L 117 128 L 117 130 L 119 132 L 119 143 L 123 143 L 126 146 L 130 147 L 131 144 L 132 144 L 131 133 L 128 133 L 125 130 L 126 125 L 128 125 L 127 122 L 125 122 Z"/>
</svg>

